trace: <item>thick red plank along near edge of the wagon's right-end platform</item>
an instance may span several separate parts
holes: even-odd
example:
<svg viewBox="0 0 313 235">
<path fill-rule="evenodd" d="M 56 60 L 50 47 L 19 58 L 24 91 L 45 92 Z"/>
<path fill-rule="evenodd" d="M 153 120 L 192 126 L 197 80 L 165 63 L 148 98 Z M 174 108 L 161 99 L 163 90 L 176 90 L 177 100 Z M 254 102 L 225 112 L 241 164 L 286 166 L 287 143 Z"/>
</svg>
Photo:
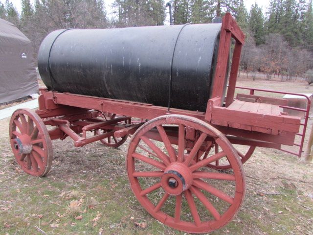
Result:
<svg viewBox="0 0 313 235">
<path fill-rule="evenodd" d="M 242 110 L 230 110 L 223 107 L 213 107 L 212 112 L 212 119 L 297 133 L 299 131 L 301 118 L 289 117 L 286 118 L 286 120 L 284 120 L 284 118 L 285 117 L 251 113 Z"/>
</svg>

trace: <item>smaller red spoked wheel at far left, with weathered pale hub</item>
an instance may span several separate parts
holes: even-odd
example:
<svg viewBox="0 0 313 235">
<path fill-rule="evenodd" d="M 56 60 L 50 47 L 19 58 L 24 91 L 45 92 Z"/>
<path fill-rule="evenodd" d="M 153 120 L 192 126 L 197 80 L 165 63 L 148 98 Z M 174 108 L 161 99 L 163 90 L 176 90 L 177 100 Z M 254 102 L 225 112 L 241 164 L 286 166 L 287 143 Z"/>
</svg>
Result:
<svg viewBox="0 0 313 235">
<path fill-rule="evenodd" d="M 30 109 L 16 110 L 10 120 L 10 142 L 17 163 L 33 176 L 44 176 L 52 164 L 52 143 L 42 119 Z"/>
</svg>

